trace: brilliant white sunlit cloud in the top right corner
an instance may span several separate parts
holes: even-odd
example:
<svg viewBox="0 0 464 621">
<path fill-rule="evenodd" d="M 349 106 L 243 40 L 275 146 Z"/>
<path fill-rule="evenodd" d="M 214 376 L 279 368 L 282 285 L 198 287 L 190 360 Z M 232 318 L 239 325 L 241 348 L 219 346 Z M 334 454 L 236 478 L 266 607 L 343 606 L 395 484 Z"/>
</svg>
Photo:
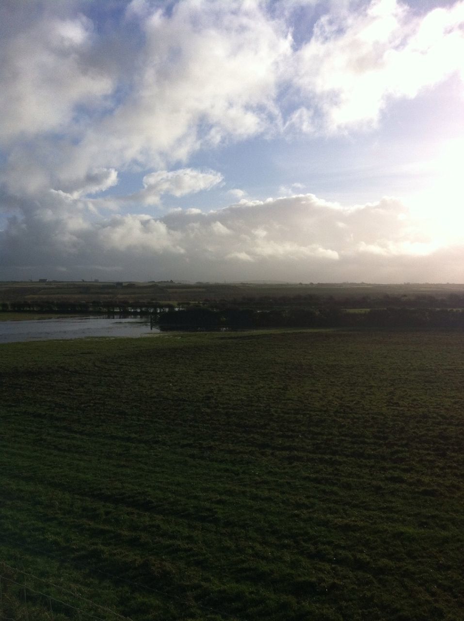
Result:
<svg viewBox="0 0 464 621">
<path fill-rule="evenodd" d="M 396 0 L 373 0 L 359 13 L 322 17 L 295 55 L 295 84 L 315 102 L 329 132 L 375 124 L 392 97 L 464 71 L 464 2 L 414 17 Z M 311 131 L 305 107 L 287 124 Z"/>
</svg>

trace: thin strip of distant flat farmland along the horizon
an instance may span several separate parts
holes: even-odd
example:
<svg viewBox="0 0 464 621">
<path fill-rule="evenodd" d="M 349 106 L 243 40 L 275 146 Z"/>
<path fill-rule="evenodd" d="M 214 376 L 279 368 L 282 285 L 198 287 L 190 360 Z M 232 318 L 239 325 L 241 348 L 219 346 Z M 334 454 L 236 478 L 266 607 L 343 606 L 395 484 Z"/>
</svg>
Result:
<svg viewBox="0 0 464 621">
<path fill-rule="evenodd" d="M 236 281 L 236 282 L 208 282 L 174 281 L 174 279 L 160 281 L 135 281 L 115 280 L 104 281 L 92 279 L 86 281 L 45 280 L 41 281 L 0 281 L 0 302 L 24 301 L 73 301 L 79 299 L 95 301 L 97 298 L 104 300 L 120 300 L 125 306 L 132 302 L 143 302 L 149 306 L 156 300 L 165 302 L 201 302 L 208 304 L 213 301 L 234 300 L 235 303 L 244 304 L 247 299 L 259 301 L 272 299 L 277 303 L 280 297 L 285 299 L 301 298 L 301 304 L 311 306 L 328 300 L 336 299 L 354 300 L 369 296 L 372 301 L 381 297 L 390 296 L 390 304 L 395 297 L 409 299 L 411 304 L 424 305 L 427 296 L 434 299 L 434 304 L 444 296 L 451 296 L 448 306 L 453 306 L 452 296 L 459 296 L 464 291 L 464 283 L 303 283 L 286 281 Z M 417 299 L 423 298 L 422 302 Z M 311 301 L 312 300 L 312 301 Z M 454 303 L 458 304 L 458 298 Z M 241 302 L 240 302 L 241 301 Z M 369 306 L 371 302 L 365 302 Z M 372 302 L 374 303 L 374 302 Z M 460 306 L 460 302 L 458 304 Z"/>
</svg>

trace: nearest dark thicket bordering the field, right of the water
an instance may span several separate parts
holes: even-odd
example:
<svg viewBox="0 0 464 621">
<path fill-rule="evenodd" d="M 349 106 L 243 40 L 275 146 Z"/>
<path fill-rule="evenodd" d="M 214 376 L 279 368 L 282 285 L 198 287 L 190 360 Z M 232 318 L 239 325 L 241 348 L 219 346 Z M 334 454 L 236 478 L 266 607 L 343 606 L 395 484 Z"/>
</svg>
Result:
<svg viewBox="0 0 464 621">
<path fill-rule="evenodd" d="M 190 306 L 158 314 L 164 330 L 220 330 L 259 328 L 391 328 L 464 329 L 464 311 L 458 309 L 383 308 L 349 312 L 338 307 L 272 309 Z"/>
</svg>

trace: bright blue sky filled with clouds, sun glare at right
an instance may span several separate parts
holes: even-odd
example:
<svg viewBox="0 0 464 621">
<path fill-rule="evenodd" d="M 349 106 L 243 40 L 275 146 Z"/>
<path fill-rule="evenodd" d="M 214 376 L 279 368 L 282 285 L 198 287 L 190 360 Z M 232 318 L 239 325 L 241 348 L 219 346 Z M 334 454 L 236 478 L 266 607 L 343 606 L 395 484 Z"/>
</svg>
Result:
<svg viewBox="0 0 464 621">
<path fill-rule="evenodd" d="M 2 0 L 0 279 L 464 283 L 464 0 Z"/>
</svg>

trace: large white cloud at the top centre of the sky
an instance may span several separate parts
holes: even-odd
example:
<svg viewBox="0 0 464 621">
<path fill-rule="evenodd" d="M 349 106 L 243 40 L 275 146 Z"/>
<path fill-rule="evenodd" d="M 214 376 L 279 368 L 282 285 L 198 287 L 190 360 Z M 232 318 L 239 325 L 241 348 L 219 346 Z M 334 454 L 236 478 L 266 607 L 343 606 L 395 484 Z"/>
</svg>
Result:
<svg viewBox="0 0 464 621">
<path fill-rule="evenodd" d="M 146 44 L 132 91 L 81 145 L 102 165 L 185 161 L 201 146 L 279 123 L 275 99 L 291 41 L 259 2 L 185 0 L 169 15 L 147 15 L 146 5 L 135 14 Z"/>
</svg>

